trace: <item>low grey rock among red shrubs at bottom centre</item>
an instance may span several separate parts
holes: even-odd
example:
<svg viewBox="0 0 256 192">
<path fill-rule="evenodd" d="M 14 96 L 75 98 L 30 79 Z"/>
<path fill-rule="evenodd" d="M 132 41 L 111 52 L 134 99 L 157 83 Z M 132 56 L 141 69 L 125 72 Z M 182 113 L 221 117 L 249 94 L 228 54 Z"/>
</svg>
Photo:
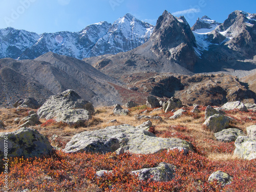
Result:
<svg viewBox="0 0 256 192">
<path fill-rule="evenodd" d="M 157 167 L 133 170 L 131 174 L 137 175 L 139 180 L 167 182 L 175 177 L 175 169 L 176 166 L 162 162 Z"/>
</svg>

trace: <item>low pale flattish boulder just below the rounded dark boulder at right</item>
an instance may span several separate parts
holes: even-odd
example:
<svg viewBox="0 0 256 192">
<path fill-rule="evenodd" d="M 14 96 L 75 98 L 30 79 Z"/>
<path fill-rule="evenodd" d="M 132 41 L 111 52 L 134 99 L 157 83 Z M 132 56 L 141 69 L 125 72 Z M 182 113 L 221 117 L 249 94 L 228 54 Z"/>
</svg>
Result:
<svg viewBox="0 0 256 192">
<path fill-rule="evenodd" d="M 244 132 L 234 128 L 222 130 L 221 132 L 215 133 L 214 135 L 218 141 L 222 142 L 236 141 L 238 136 L 245 136 Z"/>
</svg>

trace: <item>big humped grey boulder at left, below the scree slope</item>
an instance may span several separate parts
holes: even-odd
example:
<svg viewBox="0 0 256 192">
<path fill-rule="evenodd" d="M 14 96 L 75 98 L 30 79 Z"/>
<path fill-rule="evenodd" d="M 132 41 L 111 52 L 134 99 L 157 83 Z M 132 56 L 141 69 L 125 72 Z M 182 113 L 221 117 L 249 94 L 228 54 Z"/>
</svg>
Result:
<svg viewBox="0 0 256 192">
<path fill-rule="evenodd" d="M 92 103 L 81 99 L 73 90 L 51 96 L 37 111 L 40 118 L 56 118 L 70 124 L 87 121 L 93 113 Z"/>
</svg>

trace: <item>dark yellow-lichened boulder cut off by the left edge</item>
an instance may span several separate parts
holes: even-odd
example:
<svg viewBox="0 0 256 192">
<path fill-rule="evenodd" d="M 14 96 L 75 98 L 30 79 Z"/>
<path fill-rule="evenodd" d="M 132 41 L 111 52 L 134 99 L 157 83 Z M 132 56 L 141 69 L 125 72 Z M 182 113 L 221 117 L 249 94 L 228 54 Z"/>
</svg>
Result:
<svg viewBox="0 0 256 192">
<path fill-rule="evenodd" d="M 14 132 L 0 133 L 0 159 L 4 157 L 5 140 L 8 141 L 8 157 L 39 157 L 49 155 L 53 150 L 45 136 L 37 130 L 23 127 Z"/>
</svg>

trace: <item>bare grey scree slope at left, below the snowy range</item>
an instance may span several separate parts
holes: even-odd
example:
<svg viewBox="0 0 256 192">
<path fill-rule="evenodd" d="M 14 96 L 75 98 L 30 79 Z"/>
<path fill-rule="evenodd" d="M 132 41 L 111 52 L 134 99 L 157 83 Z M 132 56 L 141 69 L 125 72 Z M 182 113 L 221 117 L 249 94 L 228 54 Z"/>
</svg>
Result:
<svg viewBox="0 0 256 192">
<path fill-rule="evenodd" d="M 0 59 L 0 100 L 14 103 L 28 96 L 44 101 L 52 94 L 75 90 L 94 105 L 120 103 L 114 79 L 76 58 L 46 53 L 34 60 Z M 117 83 L 118 84 L 118 83 Z"/>
</svg>

